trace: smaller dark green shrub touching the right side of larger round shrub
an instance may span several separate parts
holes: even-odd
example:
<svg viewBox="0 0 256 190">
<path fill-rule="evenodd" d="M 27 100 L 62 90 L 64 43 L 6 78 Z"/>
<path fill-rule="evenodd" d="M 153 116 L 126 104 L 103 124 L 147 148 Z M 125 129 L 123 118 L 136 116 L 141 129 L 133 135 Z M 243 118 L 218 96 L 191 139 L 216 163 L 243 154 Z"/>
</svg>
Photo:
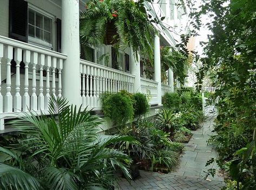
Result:
<svg viewBox="0 0 256 190">
<path fill-rule="evenodd" d="M 149 111 L 149 104 L 147 97 L 142 93 L 135 93 L 134 98 L 134 114 L 135 116 L 145 115 Z"/>
</svg>

